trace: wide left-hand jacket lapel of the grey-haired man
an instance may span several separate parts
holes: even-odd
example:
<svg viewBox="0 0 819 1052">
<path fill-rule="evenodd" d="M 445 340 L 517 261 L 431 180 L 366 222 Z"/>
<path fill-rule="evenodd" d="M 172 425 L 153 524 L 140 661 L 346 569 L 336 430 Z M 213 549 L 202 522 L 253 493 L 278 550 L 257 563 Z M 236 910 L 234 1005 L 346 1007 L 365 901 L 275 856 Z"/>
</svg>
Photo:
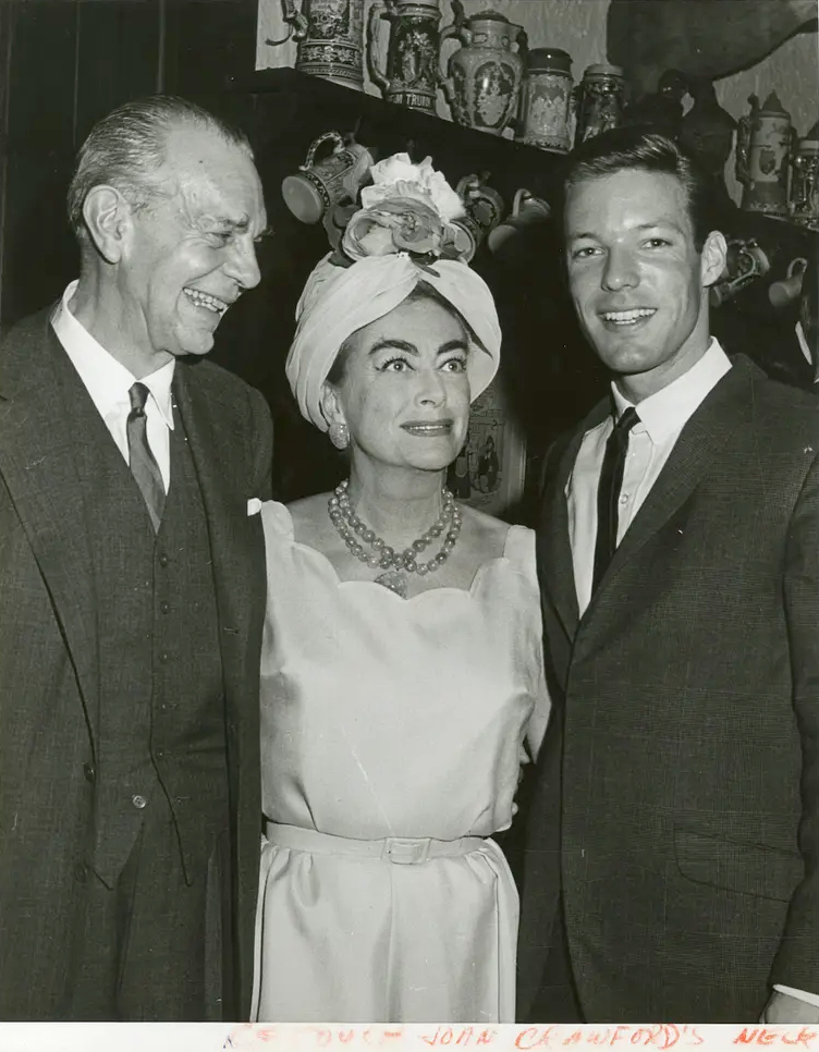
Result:
<svg viewBox="0 0 819 1052">
<path fill-rule="evenodd" d="M 73 369 L 41 316 L 0 366 L 0 473 L 48 588 L 96 735 L 99 674 L 94 574 L 70 414 Z M 81 382 L 76 378 L 77 384 Z M 97 524 L 98 525 L 98 524 Z"/>
</svg>

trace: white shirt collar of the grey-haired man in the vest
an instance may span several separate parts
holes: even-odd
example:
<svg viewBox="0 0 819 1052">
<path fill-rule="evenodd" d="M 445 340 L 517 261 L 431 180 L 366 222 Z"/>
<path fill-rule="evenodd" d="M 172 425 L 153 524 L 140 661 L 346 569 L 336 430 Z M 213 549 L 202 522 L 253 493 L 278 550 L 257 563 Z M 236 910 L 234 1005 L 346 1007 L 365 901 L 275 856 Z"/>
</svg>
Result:
<svg viewBox="0 0 819 1052">
<path fill-rule="evenodd" d="M 76 286 L 77 282 L 72 281 L 63 293 L 51 318 L 51 327 L 100 415 L 106 417 L 123 403 L 130 406 L 129 391 L 136 382 L 136 377 L 106 351 L 71 313 L 69 304 L 76 292 Z M 171 383 L 175 364 L 175 359 L 172 358 L 154 372 L 140 378 L 140 382 L 150 392 L 160 416 L 171 430 L 173 430 Z"/>
</svg>

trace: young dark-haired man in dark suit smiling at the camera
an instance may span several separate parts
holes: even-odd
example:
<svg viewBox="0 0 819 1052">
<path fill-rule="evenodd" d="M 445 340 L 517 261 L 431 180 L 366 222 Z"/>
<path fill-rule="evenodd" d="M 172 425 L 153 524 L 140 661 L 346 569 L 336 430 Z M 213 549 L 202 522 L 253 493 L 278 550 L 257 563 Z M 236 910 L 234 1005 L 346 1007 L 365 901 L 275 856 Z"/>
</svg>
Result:
<svg viewBox="0 0 819 1052">
<path fill-rule="evenodd" d="M 611 396 L 552 450 L 521 1011 L 819 1019 L 819 414 L 710 337 L 725 240 L 684 150 L 624 129 L 566 184 Z"/>
</svg>

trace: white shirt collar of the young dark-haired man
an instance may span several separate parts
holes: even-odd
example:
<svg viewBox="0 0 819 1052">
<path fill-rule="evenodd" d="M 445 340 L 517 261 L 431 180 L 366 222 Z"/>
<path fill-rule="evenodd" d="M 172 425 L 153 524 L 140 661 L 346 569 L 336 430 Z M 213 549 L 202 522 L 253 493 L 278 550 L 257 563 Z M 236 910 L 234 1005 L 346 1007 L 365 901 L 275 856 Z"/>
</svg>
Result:
<svg viewBox="0 0 819 1052">
<path fill-rule="evenodd" d="M 719 341 L 711 337 L 708 350 L 676 380 L 644 399 L 635 406 L 640 423 L 635 432 L 645 428 L 655 445 L 683 429 L 695 409 L 731 368 L 728 355 Z M 633 404 L 612 383 L 611 393 L 618 419 Z"/>
</svg>

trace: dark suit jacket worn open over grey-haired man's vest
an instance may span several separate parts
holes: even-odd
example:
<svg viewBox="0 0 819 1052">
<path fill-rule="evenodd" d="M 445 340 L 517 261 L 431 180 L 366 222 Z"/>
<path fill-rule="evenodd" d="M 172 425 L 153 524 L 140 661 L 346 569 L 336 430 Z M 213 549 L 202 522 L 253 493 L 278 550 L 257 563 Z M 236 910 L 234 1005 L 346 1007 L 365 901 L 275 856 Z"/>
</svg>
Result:
<svg viewBox="0 0 819 1052">
<path fill-rule="evenodd" d="M 50 311 L 0 347 L 0 1018 L 36 992 L 60 1004 L 78 938 L 95 822 L 84 776 L 98 742 L 94 530 L 59 404 L 64 351 Z M 249 1012 L 260 831 L 258 684 L 272 428 L 261 395 L 208 362 L 180 362 L 175 401 L 206 510 L 219 609 L 232 807 L 241 1012 Z M 117 589 L 122 583 L 111 582 Z"/>
</svg>

